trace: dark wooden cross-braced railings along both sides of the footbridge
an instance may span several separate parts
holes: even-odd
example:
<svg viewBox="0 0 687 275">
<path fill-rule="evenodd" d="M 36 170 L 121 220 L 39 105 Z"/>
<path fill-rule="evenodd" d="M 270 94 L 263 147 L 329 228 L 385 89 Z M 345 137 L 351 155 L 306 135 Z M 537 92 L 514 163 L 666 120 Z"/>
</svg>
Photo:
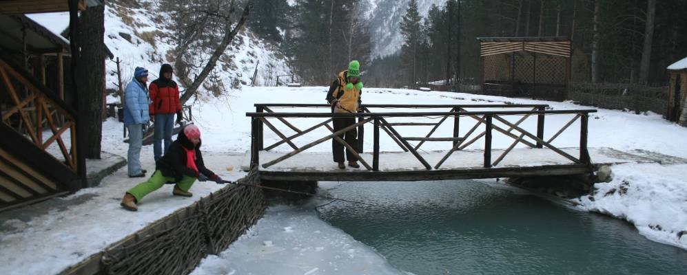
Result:
<svg viewBox="0 0 687 275">
<path fill-rule="evenodd" d="M 418 104 L 365 104 L 360 107 L 359 113 L 331 113 L 327 104 L 255 104 L 255 113 L 246 113 L 247 116 L 252 118 L 252 161 L 253 165 L 260 165 L 259 152 L 269 151 L 282 144 L 288 144 L 294 151 L 286 153 L 276 159 L 269 162 L 261 164 L 263 168 L 273 166 L 279 162 L 283 162 L 285 159 L 293 157 L 298 153 L 308 150 L 322 142 L 330 139 L 336 140 L 346 148 L 348 148 L 353 155 L 355 155 L 361 164 L 367 168 L 367 170 L 377 171 L 379 170 L 379 155 L 380 155 L 380 130 L 384 131 L 391 137 L 391 140 L 396 142 L 396 144 L 405 152 L 410 152 L 413 156 L 418 159 L 418 161 L 427 168 L 431 170 L 432 168 L 438 169 L 444 164 L 444 162 L 453 154 L 455 151 L 460 151 L 467 146 L 477 142 L 482 137 L 484 137 L 484 167 L 490 168 L 492 166 L 498 165 L 504 157 L 515 148 L 517 144 L 524 144 L 531 148 L 549 148 L 551 151 L 562 155 L 571 162 L 575 164 L 590 164 L 587 151 L 587 133 L 588 133 L 588 115 L 589 113 L 596 112 L 593 109 L 582 109 L 582 110 L 547 110 L 548 105 L 546 104 L 431 104 L 431 105 L 418 105 Z M 274 112 L 274 108 L 327 108 L 323 112 Z M 418 112 L 372 112 L 370 109 L 442 109 L 447 111 L 418 111 Z M 479 111 L 469 111 L 468 109 L 480 109 Z M 524 110 L 512 110 L 512 109 L 524 109 Z M 485 110 L 486 109 L 486 110 Z M 498 109 L 491 111 L 489 109 Z M 534 131 L 527 131 L 520 124 L 524 122 L 527 118 L 535 115 L 537 117 L 537 127 Z M 546 115 L 574 115 L 573 119 L 568 121 L 566 124 L 561 126 L 557 132 L 548 138 L 544 139 L 544 123 Z M 507 118 L 512 118 L 513 116 L 521 116 L 519 120 L 515 122 L 509 121 Z M 433 123 L 418 123 L 418 122 L 389 122 L 387 118 L 428 118 L 433 117 L 440 119 L 439 122 Z M 273 123 L 269 122 L 268 118 L 276 119 L 285 124 L 289 129 L 296 132 L 293 135 L 287 136 L 283 134 L 279 129 L 274 126 Z M 314 124 L 308 129 L 301 130 L 294 126 L 287 119 L 289 118 L 327 118 L 324 122 Z M 334 129 L 329 125 L 334 118 L 357 118 L 356 124 L 347 126 L 339 131 L 334 131 Z M 451 137 L 433 137 L 435 131 L 438 127 L 447 120 L 453 120 L 453 136 Z M 471 121 L 474 120 L 475 124 L 471 126 L 471 129 L 467 131 L 465 135 L 460 135 L 460 124 L 461 118 L 463 121 L 465 118 L 469 118 Z M 574 157 L 566 153 L 565 151 L 553 146 L 551 142 L 559 137 L 566 129 L 568 129 L 574 122 L 580 120 L 580 154 L 579 157 Z M 495 124 L 498 122 L 500 125 Z M 373 124 L 373 159 L 372 164 L 368 164 L 365 159 L 360 157 L 362 153 L 362 144 L 364 138 L 365 124 Z M 267 126 L 271 131 L 273 131 L 280 141 L 270 146 L 264 146 L 264 135 L 263 126 Z M 478 133 L 480 126 L 484 125 L 484 129 Z M 397 126 L 432 126 L 429 133 L 420 137 L 409 137 L 401 135 L 397 130 Z M 331 134 L 326 135 L 318 140 L 310 142 L 304 146 L 296 146 L 293 140 L 301 137 L 307 133 L 319 128 L 327 128 Z M 351 144 L 347 144 L 340 135 L 343 135 L 346 131 L 358 128 L 358 151 L 356 151 Z M 513 143 L 506 148 L 503 153 L 497 157 L 494 161 L 492 160 L 492 147 L 493 147 L 493 131 L 498 131 L 503 135 L 513 139 Z M 518 135 L 519 134 L 519 135 Z M 527 140 L 529 138 L 529 140 Z M 418 142 L 415 146 L 412 146 L 409 142 Z M 425 142 L 451 142 L 452 146 L 450 150 L 442 157 L 442 159 L 431 166 L 420 153 L 418 149 Z"/>
</svg>

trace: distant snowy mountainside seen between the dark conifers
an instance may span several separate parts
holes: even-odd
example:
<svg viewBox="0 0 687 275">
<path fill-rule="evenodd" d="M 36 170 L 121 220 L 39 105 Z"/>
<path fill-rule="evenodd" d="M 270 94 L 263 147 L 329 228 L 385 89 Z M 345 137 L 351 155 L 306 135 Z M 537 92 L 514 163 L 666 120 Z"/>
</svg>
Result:
<svg viewBox="0 0 687 275">
<path fill-rule="evenodd" d="M 410 0 L 370 0 L 375 7 L 371 15 L 371 36 L 375 45 L 373 56 L 387 56 L 400 50 L 403 36 L 399 24 L 408 9 Z M 420 0 L 420 16 L 427 17 L 432 5 L 442 7 L 446 0 Z"/>
</svg>

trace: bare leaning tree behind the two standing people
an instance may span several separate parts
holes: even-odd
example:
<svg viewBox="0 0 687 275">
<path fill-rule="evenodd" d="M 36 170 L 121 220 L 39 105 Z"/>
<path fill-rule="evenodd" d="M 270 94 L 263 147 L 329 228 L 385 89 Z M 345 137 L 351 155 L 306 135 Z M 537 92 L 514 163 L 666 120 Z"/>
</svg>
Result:
<svg viewBox="0 0 687 275">
<path fill-rule="evenodd" d="M 243 28 L 253 7 L 253 0 L 232 0 L 228 5 L 221 0 L 167 1 L 177 22 L 174 37 L 179 42 L 175 49 L 174 67 L 179 80 L 186 87 L 185 94 L 181 96 L 183 104 L 196 94 Z M 236 7 L 240 3 L 245 3 L 243 12 L 236 18 Z M 214 50 L 206 60 L 197 49 L 207 47 Z M 201 72 L 192 77 L 196 69 L 201 69 Z"/>
</svg>

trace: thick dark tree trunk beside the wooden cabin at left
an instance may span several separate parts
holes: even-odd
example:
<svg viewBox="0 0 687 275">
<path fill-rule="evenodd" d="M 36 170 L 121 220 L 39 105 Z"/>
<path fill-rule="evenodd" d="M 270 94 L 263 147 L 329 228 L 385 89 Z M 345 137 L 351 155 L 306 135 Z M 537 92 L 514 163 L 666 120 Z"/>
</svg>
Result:
<svg viewBox="0 0 687 275">
<path fill-rule="evenodd" d="M 99 159 L 103 130 L 103 94 L 105 89 L 105 7 L 97 5 L 81 13 L 79 28 L 79 45 L 81 58 L 76 65 L 76 86 L 79 96 L 79 120 L 83 121 L 82 131 L 85 149 L 84 155 L 89 159 Z"/>
</svg>

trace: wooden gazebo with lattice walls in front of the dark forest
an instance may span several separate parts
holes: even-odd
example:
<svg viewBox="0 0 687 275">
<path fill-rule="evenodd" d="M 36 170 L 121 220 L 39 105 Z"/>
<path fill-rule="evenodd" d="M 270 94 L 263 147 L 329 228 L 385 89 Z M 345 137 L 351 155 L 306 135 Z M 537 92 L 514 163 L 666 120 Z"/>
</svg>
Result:
<svg viewBox="0 0 687 275">
<path fill-rule="evenodd" d="M 572 43 L 556 37 L 480 37 L 482 91 L 493 96 L 564 100 Z"/>
</svg>

